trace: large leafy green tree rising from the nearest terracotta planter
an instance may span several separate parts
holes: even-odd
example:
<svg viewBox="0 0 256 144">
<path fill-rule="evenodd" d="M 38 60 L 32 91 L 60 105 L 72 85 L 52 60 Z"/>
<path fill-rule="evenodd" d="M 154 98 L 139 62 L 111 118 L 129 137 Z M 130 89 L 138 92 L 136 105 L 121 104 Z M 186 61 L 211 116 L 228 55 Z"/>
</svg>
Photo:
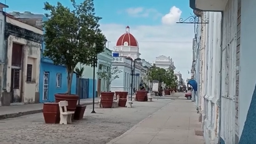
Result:
<svg viewBox="0 0 256 144">
<path fill-rule="evenodd" d="M 77 4 L 70 0 L 73 10 L 60 2 L 51 5 L 45 2 L 44 9 L 49 11 L 44 23 L 44 56 L 53 60 L 55 65 L 67 68 L 67 94 L 71 94 L 74 68 L 78 62 L 90 65 L 98 53 L 104 51 L 106 38 L 101 33 L 95 15 L 93 0 Z"/>
</svg>

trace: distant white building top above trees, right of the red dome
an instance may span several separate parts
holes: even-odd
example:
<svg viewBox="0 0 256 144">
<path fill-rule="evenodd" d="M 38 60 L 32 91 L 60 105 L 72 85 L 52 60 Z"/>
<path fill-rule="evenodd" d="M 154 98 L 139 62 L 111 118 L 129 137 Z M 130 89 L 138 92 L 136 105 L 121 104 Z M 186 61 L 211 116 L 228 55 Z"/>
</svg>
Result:
<svg viewBox="0 0 256 144">
<path fill-rule="evenodd" d="M 165 69 L 172 68 L 173 70 L 175 69 L 173 59 L 171 59 L 170 57 L 166 57 L 164 55 L 155 58 L 155 67 Z"/>
</svg>

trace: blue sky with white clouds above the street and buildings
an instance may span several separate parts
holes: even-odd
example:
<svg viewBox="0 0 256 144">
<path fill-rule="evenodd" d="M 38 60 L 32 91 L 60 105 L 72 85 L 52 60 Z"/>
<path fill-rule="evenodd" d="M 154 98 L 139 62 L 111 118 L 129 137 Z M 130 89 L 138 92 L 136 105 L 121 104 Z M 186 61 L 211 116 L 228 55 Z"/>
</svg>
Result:
<svg viewBox="0 0 256 144">
<path fill-rule="evenodd" d="M 0 1 L 5 3 L 4 0 Z M 55 5 L 57 1 L 72 8 L 69 0 L 49 2 Z M 45 0 L 6 0 L 9 6 L 6 11 L 45 14 L 44 2 Z M 125 33 L 126 25 L 129 25 L 130 33 L 139 43 L 140 58 L 152 63 L 157 56 L 170 56 L 183 78 L 190 77 L 188 70 L 191 68 L 194 25 L 175 23 L 179 18 L 186 19 L 192 13 L 189 0 L 94 0 L 94 5 L 96 15 L 102 17 L 101 30 L 110 41 L 111 50 L 115 51 L 118 38 Z"/>
</svg>

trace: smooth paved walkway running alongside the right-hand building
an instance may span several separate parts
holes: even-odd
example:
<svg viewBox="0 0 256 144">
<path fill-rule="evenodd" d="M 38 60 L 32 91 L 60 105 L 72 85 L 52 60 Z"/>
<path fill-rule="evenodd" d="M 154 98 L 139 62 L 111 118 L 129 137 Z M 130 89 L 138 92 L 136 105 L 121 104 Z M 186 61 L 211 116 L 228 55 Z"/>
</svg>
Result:
<svg viewBox="0 0 256 144">
<path fill-rule="evenodd" d="M 182 96 L 107 144 L 204 144 L 195 103 Z"/>
</svg>

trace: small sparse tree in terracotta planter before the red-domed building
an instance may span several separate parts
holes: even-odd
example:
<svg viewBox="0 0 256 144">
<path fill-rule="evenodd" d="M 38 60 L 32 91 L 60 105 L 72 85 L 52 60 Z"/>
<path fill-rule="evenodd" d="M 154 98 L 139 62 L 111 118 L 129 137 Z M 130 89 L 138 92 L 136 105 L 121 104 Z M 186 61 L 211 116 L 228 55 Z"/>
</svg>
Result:
<svg viewBox="0 0 256 144">
<path fill-rule="evenodd" d="M 112 67 L 112 68 L 107 68 L 106 71 L 97 72 L 97 74 L 101 79 L 104 79 L 106 81 L 107 91 L 109 92 L 109 88 L 112 81 L 119 78 L 119 73 L 121 72 L 122 71 L 117 67 Z"/>
</svg>

